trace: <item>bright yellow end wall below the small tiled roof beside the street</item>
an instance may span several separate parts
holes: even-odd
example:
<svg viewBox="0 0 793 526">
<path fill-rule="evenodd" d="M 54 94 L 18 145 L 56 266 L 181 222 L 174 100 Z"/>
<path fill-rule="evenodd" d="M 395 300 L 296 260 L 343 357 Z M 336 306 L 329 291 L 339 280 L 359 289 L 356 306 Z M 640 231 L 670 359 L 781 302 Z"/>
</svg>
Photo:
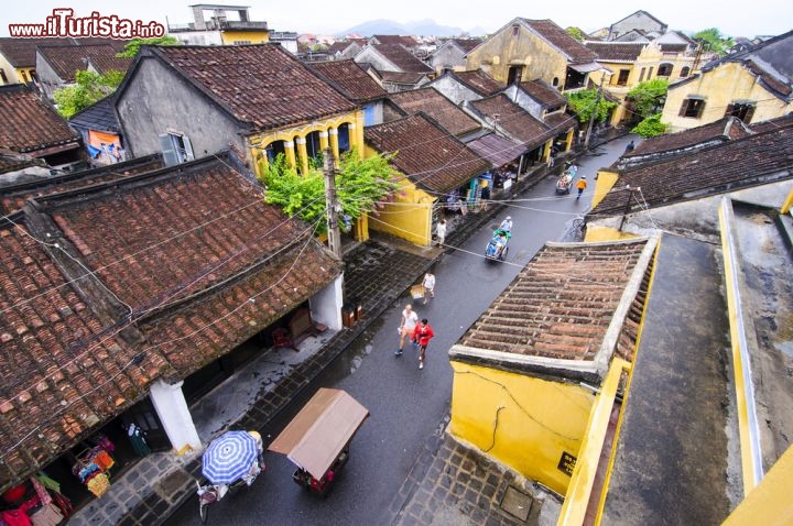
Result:
<svg viewBox="0 0 793 526">
<path fill-rule="evenodd" d="M 577 384 L 452 361 L 449 431 L 523 476 L 565 494 L 563 453 L 578 454 L 594 395 Z"/>
</svg>

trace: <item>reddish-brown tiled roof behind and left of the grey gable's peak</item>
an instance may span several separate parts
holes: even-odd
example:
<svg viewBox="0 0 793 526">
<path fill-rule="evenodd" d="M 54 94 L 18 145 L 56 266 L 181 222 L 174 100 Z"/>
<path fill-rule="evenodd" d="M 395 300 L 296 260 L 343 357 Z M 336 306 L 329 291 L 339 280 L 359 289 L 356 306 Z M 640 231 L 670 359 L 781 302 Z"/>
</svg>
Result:
<svg viewBox="0 0 793 526">
<path fill-rule="evenodd" d="M 88 69 L 88 61 L 100 74 L 106 74 L 111 69 L 127 73 L 132 59 L 118 58 L 116 53 L 117 51 L 108 44 L 39 46 L 39 54 L 66 83 L 74 83 L 77 72 Z"/>
</svg>

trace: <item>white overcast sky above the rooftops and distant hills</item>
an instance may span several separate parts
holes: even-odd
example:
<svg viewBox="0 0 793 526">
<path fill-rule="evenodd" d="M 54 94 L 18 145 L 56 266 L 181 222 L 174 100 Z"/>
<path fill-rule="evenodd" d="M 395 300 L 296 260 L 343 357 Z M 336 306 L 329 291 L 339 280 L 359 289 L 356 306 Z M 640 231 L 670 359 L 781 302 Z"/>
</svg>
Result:
<svg viewBox="0 0 793 526">
<path fill-rule="evenodd" d="M 82 17 L 99 11 L 101 15 L 116 14 L 143 22 L 165 24 L 167 18 L 172 24 L 187 23 L 192 21 L 188 6 L 194 2 L 197 3 L 196 0 L 8 0 L 2 2 L 0 36 L 8 36 L 9 23 L 44 23 L 54 8 L 73 8 L 75 14 Z M 461 28 L 465 31 L 479 26 L 492 32 L 515 17 L 551 19 L 563 28 L 576 25 L 584 31 L 594 31 L 639 9 L 666 23 L 670 29 L 688 33 L 718 28 L 721 33 L 730 36 L 752 37 L 776 35 L 793 29 L 791 0 L 656 0 L 643 4 L 616 0 L 253 0 L 239 4 L 250 6 L 251 20 L 267 21 L 271 30 L 321 34 L 335 34 L 377 19 L 402 23 L 432 19 L 442 25 Z"/>
</svg>

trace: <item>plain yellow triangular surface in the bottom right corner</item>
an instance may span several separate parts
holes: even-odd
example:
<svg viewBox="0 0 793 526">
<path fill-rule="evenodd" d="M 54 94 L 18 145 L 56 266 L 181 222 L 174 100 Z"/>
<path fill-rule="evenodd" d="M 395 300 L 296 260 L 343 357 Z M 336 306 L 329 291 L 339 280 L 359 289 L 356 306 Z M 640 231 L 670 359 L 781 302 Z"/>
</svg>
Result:
<svg viewBox="0 0 793 526">
<path fill-rule="evenodd" d="M 721 526 L 790 526 L 793 524 L 791 481 L 793 446 L 787 448 L 762 482 L 743 498 Z"/>
</svg>

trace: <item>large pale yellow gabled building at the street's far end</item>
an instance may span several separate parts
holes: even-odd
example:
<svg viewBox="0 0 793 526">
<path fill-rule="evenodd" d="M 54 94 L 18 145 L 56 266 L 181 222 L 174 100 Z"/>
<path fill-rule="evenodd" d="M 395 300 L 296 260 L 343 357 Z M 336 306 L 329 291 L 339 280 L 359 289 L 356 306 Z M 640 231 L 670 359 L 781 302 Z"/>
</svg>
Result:
<svg viewBox="0 0 793 526">
<path fill-rule="evenodd" d="M 484 69 L 502 84 L 541 78 L 561 90 L 586 87 L 600 66 L 596 54 L 551 20 L 517 18 L 466 55 L 466 69 Z"/>
</svg>

